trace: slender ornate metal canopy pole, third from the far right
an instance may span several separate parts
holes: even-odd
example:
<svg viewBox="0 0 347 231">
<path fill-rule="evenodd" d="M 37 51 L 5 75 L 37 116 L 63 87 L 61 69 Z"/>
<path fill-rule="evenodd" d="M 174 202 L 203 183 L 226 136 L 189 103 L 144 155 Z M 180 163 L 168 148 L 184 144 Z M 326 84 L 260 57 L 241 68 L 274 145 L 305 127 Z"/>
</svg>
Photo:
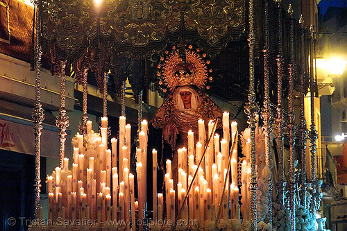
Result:
<svg viewBox="0 0 347 231">
<path fill-rule="evenodd" d="M 294 80 L 296 78 L 295 67 L 295 51 L 294 51 L 294 17 L 293 9 L 289 4 L 289 121 L 287 124 L 289 131 L 289 214 L 290 214 L 290 226 L 291 230 L 296 230 L 296 216 L 295 216 L 295 192 L 296 192 L 296 180 L 295 180 L 295 116 L 294 116 Z"/>
</svg>

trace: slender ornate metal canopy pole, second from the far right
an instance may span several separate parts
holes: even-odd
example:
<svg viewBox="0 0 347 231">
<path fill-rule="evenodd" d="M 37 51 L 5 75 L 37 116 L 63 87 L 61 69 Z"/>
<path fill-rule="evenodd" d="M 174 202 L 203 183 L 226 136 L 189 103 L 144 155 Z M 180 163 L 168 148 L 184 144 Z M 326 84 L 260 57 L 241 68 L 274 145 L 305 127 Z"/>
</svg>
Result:
<svg viewBox="0 0 347 231">
<path fill-rule="evenodd" d="M 303 26 L 303 15 L 299 20 L 301 26 L 301 78 L 300 78 L 300 121 L 301 126 L 299 129 L 300 133 L 300 150 L 301 150 L 301 205 L 307 207 L 306 198 L 306 139 L 307 139 L 307 126 L 305 119 L 305 78 L 307 76 L 307 56 L 305 50 L 305 28 Z"/>
</svg>

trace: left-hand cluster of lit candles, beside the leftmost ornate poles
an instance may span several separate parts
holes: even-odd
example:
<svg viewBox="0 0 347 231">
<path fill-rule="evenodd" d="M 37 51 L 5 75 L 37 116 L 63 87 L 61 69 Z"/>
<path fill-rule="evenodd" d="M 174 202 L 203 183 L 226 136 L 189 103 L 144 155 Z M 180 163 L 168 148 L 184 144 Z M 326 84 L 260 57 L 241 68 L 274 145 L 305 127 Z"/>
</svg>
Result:
<svg viewBox="0 0 347 231">
<path fill-rule="evenodd" d="M 93 146 L 83 144 L 83 135 L 76 135 L 74 163 L 69 171 L 69 159 L 63 168 L 55 169 L 55 176 L 47 177 L 49 190 L 49 219 L 125 219 L 135 225 L 135 210 L 143 219 L 146 198 L 146 146 L 147 122 L 142 121 L 137 148 L 138 200 L 135 201 L 134 176 L 130 173 L 130 125 L 126 118 L 119 119 L 119 168 L 117 168 L 117 139 L 111 139 L 112 151 L 107 149 L 107 118 L 101 120 L 101 137 L 92 134 L 91 121 L 87 121 L 87 136 L 96 135 L 96 152 Z M 106 142 L 103 142 L 105 141 Z M 87 148 L 85 148 L 87 147 Z M 111 184 L 112 181 L 112 184 Z M 112 187 L 111 187 L 112 186 Z M 112 188 L 112 191 L 111 191 Z M 130 211 L 131 212 L 130 214 Z M 142 211 L 142 212 L 141 212 Z M 128 228 L 127 228 L 128 229 Z"/>
</svg>

